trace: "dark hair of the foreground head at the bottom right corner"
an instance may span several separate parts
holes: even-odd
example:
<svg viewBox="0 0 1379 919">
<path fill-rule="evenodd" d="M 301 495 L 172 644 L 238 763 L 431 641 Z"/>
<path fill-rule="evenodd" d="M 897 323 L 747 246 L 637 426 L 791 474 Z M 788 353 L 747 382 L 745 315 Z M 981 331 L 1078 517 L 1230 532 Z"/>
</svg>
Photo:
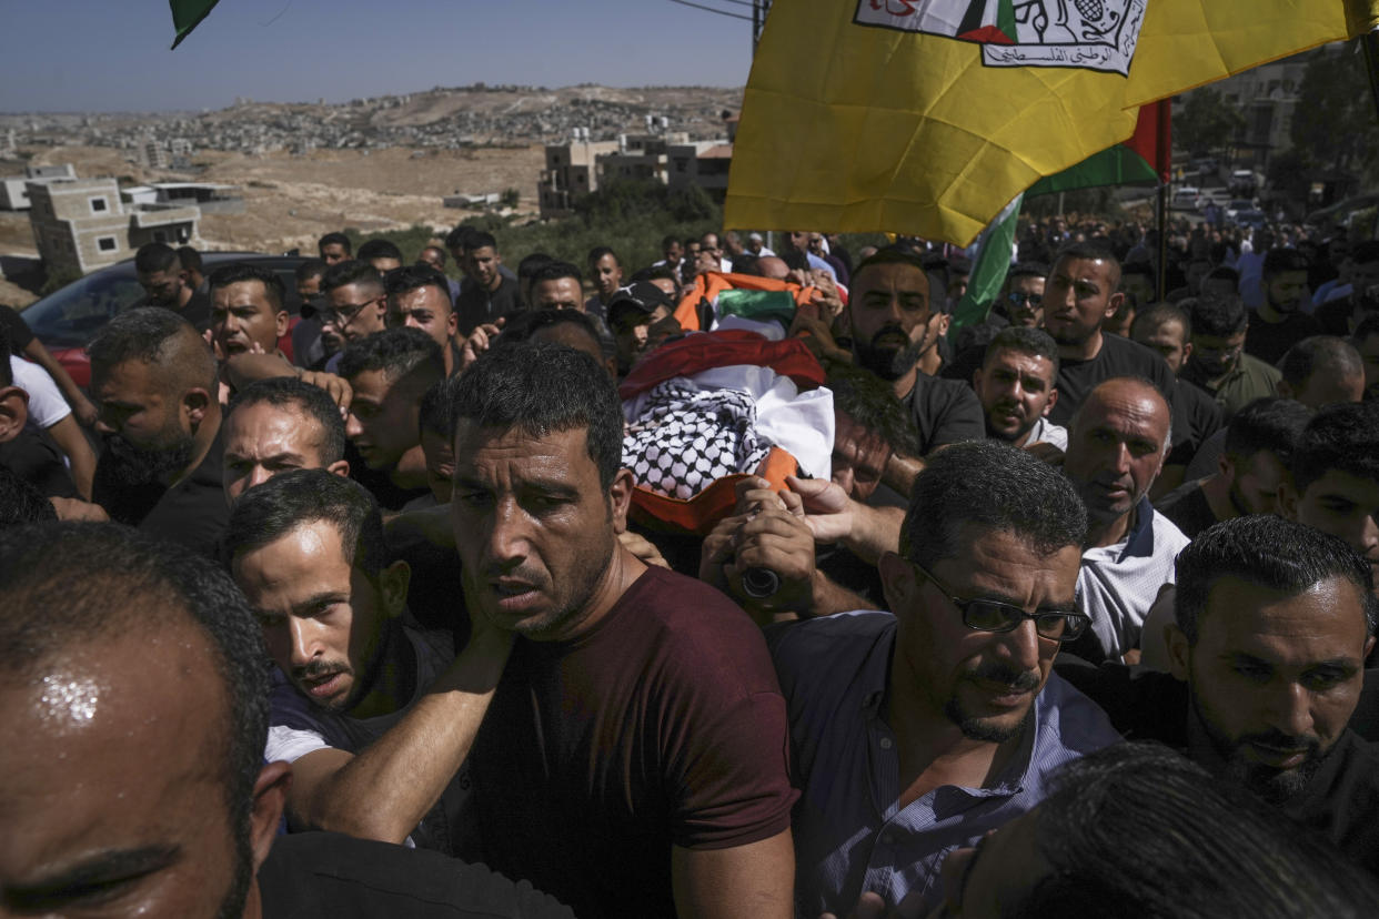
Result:
<svg viewBox="0 0 1379 919">
<path fill-rule="evenodd" d="M 1128 846 L 1127 839 L 1143 846 Z M 1223 845 L 1223 840 L 1230 840 Z M 1154 743 L 1111 744 L 1060 766 L 1034 817 L 1048 874 L 1003 916 L 1128 919 L 1372 912 L 1369 876 L 1318 834 L 1285 825 L 1249 789 Z"/>
</svg>

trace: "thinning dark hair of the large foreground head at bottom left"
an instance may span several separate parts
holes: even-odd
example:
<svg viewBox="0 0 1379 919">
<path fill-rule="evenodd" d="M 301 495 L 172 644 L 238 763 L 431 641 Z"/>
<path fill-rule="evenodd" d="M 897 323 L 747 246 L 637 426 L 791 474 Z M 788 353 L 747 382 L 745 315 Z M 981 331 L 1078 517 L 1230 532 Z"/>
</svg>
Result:
<svg viewBox="0 0 1379 919">
<path fill-rule="evenodd" d="M 201 712 L 225 747 L 236 839 L 248 839 L 254 783 L 268 740 L 269 657 L 244 594 L 217 565 L 120 524 L 48 522 L 0 530 L 0 670 L 33 675 L 68 648 L 186 624 L 205 637 L 225 707 Z"/>
</svg>

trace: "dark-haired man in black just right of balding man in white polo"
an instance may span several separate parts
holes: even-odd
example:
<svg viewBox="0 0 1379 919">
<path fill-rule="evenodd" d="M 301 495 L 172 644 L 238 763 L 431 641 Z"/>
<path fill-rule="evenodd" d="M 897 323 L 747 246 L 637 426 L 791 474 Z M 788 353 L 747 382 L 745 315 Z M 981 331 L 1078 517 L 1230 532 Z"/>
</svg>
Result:
<svg viewBox="0 0 1379 919">
<path fill-rule="evenodd" d="M 1284 398 L 1255 400 L 1226 426 L 1220 468 L 1154 502 L 1189 539 L 1212 524 L 1245 514 L 1273 514 L 1294 446 L 1311 412 Z"/>
</svg>

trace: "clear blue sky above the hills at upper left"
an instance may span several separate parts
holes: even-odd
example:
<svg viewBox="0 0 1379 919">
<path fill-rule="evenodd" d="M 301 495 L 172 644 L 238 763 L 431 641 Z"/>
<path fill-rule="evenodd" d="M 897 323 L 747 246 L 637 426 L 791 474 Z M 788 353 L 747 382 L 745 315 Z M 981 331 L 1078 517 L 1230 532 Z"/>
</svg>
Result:
<svg viewBox="0 0 1379 919">
<path fill-rule="evenodd" d="M 696 0 L 752 14 L 741 0 Z M 752 25 L 672 0 L 0 0 L 0 112 L 343 102 L 434 85 L 741 87 Z"/>
</svg>

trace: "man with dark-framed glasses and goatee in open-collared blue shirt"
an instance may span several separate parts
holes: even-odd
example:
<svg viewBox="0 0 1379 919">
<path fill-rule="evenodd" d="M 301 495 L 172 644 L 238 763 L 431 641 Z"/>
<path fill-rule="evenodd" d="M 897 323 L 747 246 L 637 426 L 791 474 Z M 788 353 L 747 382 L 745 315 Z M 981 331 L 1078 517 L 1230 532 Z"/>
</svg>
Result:
<svg viewBox="0 0 1379 919">
<path fill-rule="evenodd" d="M 949 851 L 1117 739 L 1051 675 L 1062 642 L 1089 627 L 1074 598 L 1085 529 L 1056 470 L 1004 444 L 957 444 L 916 479 L 900 554 L 881 557 L 894 615 L 768 631 L 801 789 L 800 915 L 848 915 L 863 893 L 892 908 L 918 898 L 925 915 Z"/>
</svg>

